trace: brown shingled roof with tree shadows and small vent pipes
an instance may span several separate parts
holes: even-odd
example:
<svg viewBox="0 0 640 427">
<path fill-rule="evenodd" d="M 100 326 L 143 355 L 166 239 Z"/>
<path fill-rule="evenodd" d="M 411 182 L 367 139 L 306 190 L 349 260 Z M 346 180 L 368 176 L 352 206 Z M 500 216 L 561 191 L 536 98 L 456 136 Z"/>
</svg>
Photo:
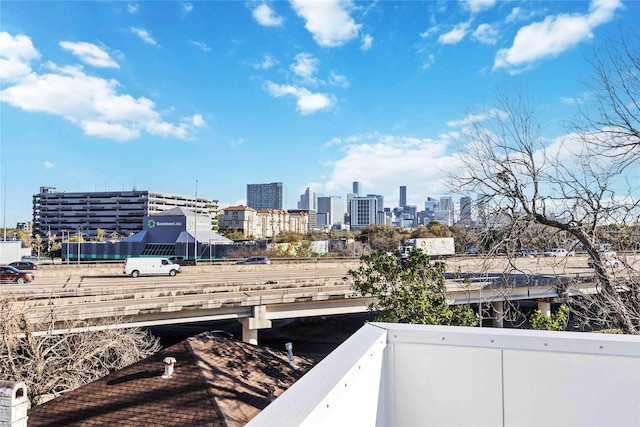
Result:
<svg viewBox="0 0 640 427">
<path fill-rule="evenodd" d="M 176 359 L 162 378 L 163 360 Z M 36 406 L 36 426 L 243 426 L 312 362 L 205 332 Z"/>
</svg>

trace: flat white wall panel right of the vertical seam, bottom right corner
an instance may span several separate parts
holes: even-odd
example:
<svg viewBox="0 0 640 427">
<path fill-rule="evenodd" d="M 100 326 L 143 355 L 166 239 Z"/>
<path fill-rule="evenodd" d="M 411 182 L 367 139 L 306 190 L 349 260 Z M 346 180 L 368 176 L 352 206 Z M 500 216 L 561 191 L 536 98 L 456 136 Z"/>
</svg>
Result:
<svg viewBox="0 0 640 427">
<path fill-rule="evenodd" d="M 506 426 L 640 425 L 637 357 L 505 351 Z"/>
</svg>

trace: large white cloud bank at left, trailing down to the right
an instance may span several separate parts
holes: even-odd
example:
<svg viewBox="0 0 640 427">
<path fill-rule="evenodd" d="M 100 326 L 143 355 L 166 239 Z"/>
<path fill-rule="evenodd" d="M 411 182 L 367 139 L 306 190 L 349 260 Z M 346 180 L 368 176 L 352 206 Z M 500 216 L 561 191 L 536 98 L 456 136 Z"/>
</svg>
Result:
<svg viewBox="0 0 640 427">
<path fill-rule="evenodd" d="M 88 75 L 80 66 L 58 67 L 49 62 L 44 64 L 46 73 L 35 73 L 29 63 L 39 55 L 28 37 L 1 33 L 0 47 L 0 59 L 11 73 L 0 99 L 16 108 L 62 117 L 87 135 L 116 141 L 136 138 L 142 132 L 184 139 L 204 125 L 198 114 L 180 124 L 169 123 L 156 111 L 153 101 L 118 93 L 116 80 Z M 4 67 L 0 69 L 6 72 Z"/>
</svg>

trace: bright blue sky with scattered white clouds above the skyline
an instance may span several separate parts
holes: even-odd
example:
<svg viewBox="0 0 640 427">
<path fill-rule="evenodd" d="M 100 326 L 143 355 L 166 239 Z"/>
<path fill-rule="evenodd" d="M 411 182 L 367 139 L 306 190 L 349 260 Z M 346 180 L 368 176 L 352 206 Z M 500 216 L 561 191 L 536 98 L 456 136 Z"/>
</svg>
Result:
<svg viewBox="0 0 640 427">
<path fill-rule="evenodd" d="M 640 2 L 3 1 L 6 225 L 40 186 L 245 203 L 283 182 L 398 204 L 446 195 L 465 117 L 533 95 L 549 139 L 587 93 L 588 58 Z"/>
</svg>

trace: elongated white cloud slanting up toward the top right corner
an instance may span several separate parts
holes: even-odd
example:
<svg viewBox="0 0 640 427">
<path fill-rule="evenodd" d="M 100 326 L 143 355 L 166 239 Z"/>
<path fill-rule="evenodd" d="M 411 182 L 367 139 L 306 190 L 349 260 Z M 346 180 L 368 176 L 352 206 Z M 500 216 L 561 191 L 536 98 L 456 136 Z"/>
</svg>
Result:
<svg viewBox="0 0 640 427">
<path fill-rule="evenodd" d="M 619 0 L 594 0 L 586 15 L 547 16 L 541 22 L 522 27 L 516 34 L 513 45 L 498 51 L 493 68 L 517 72 L 543 58 L 560 55 L 593 37 L 591 31 L 610 21 L 615 11 L 621 7 Z"/>
</svg>

